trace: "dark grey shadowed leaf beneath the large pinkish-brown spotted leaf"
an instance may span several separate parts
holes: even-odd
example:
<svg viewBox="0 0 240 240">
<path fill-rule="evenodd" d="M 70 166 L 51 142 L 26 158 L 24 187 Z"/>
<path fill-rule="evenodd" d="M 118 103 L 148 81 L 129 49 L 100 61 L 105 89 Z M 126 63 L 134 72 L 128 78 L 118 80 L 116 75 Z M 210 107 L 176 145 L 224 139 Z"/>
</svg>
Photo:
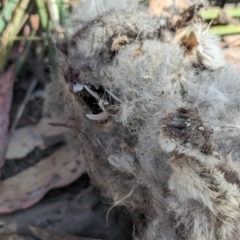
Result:
<svg viewBox="0 0 240 240">
<path fill-rule="evenodd" d="M 81 185 L 68 186 L 55 196 L 48 195 L 34 207 L 0 215 L 0 239 L 4 234 L 31 235 L 29 226 L 57 233 L 100 239 L 131 239 L 132 221 L 122 207 L 111 208 L 96 189 Z M 53 192 L 52 192 L 53 193 Z M 38 239 L 39 240 L 39 239 Z"/>
</svg>

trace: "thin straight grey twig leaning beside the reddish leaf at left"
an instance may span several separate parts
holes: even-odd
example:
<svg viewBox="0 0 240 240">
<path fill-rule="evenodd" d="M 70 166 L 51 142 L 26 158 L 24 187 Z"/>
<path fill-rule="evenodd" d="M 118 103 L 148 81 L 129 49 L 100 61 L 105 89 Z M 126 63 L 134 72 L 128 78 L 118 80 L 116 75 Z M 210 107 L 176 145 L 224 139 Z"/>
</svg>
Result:
<svg viewBox="0 0 240 240">
<path fill-rule="evenodd" d="M 23 114 L 25 106 L 28 103 L 29 97 L 30 97 L 32 91 L 34 90 L 34 88 L 36 87 L 36 84 L 37 84 L 37 80 L 35 78 L 32 79 L 32 81 L 31 81 L 31 83 L 30 83 L 30 85 L 28 87 L 28 90 L 27 90 L 27 92 L 25 94 L 25 97 L 24 97 L 24 99 L 23 99 L 23 101 L 22 101 L 22 103 L 21 103 L 21 105 L 20 105 L 20 107 L 19 107 L 19 109 L 17 111 L 17 114 L 16 114 L 15 119 L 13 121 L 12 127 L 11 127 L 11 129 L 9 131 L 9 134 L 8 134 L 8 138 L 7 138 L 5 147 L 4 147 L 4 152 L 2 154 L 2 159 L 0 159 L 0 169 L 4 165 L 5 155 L 7 153 L 8 145 L 9 145 L 9 143 L 10 143 L 12 137 L 13 137 L 13 133 L 14 133 L 14 131 L 15 131 L 16 127 L 17 127 L 17 124 L 18 124 L 18 122 L 19 122 L 19 120 L 20 120 L 20 118 L 21 118 L 21 116 Z"/>
</svg>

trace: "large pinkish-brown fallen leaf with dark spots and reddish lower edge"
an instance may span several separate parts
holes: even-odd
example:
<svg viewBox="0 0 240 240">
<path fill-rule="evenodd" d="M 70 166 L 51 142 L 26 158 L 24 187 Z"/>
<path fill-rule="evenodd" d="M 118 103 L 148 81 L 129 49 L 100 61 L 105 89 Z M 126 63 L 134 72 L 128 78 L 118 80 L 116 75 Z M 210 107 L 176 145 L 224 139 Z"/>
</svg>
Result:
<svg viewBox="0 0 240 240">
<path fill-rule="evenodd" d="M 66 186 L 84 172 L 80 155 L 64 146 L 26 171 L 0 182 L 0 213 L 28 208 L 50 189 Z"/>
</svg>

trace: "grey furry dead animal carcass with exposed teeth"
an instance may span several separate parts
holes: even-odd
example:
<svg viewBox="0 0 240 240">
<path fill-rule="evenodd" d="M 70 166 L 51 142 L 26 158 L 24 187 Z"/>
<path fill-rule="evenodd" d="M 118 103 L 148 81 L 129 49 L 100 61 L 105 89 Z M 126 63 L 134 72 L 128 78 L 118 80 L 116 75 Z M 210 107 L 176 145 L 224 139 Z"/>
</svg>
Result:
<svg viewBox="0 0 240 240">
<path fill-rule="evenodd" d="M 189 61 L 185 33 L 145 6 L 78 21 L 46 104 L 92 183 L 125 206 L 135 239 L 239 239 L 240 78 L 216 39 L 190 21 Z"/>
</svg>

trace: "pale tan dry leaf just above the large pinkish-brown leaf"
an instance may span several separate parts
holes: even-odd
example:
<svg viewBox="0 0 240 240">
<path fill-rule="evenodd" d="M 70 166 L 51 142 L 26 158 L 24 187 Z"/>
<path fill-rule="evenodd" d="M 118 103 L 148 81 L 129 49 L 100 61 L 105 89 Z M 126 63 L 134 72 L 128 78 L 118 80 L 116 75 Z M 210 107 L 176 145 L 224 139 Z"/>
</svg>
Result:
<svg viewBox="0 0 240 240">
<path fill-rule="evenodd" d="M 54 122 L 52 118 L 42 118 L 35 125 L 17 129 L 9 144 L 6 158 L 20 159 L 26 157 L 35 147 L 45 149 L 53 144 L 63 141 L 66 128 L 49 125 Z"/>
</svg>

